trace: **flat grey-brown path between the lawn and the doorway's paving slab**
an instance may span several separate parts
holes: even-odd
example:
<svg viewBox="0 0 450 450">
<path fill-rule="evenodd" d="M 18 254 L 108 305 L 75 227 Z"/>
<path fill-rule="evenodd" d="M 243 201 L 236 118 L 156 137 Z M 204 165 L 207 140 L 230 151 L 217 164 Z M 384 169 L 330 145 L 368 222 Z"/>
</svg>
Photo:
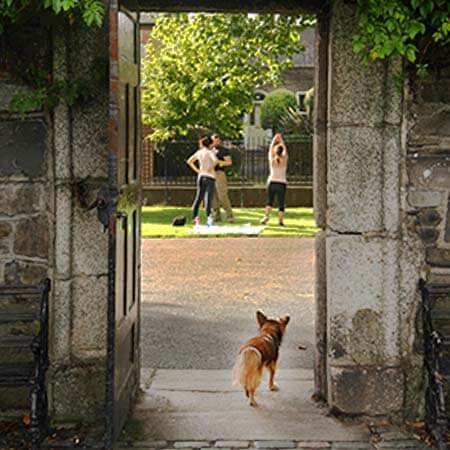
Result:
<svg viewBox="0 0 450 450">
<path fill-rule="evenodd" d="M 280 367 L 312 368 L 313 255 L 310 238 L 144 240 L 142 367 L 228 369 L 262 309 L 291 316 Z"/>
</svg>

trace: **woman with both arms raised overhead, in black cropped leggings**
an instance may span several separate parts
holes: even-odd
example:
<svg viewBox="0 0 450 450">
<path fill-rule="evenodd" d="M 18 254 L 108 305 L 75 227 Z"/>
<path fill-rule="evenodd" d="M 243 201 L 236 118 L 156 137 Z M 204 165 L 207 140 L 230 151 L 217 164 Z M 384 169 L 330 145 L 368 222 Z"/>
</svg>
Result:
<svg viewBox="0 0 450 450">
<path fill-rule="evenodd" d="M 267 179 L 267 203 L 264 208 L 264 216 L 260 223 L 265 225 L 269 221 L 270 211 L 278 200 L 278 224 L 284 226 L 284 210 L 286 201 L 286 170 L 288 154 L 281 133 L 277 133 L 269 147 L 270 175 Z"/>
</svg>

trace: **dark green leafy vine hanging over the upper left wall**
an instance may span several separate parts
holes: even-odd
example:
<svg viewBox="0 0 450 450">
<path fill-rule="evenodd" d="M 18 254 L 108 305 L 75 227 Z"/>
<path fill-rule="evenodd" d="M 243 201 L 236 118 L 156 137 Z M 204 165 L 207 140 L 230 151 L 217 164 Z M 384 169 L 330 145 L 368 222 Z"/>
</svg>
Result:
<svg viewBox="0 0 450 450">
<path fill-rule="evenodd" d="M 94 67 L 90 80 L 53 80 L 45 64 L 31 64 L 22 57 L 20 47 L 11 45 L 14 32 L 36 19 L 49 26 L 58 18 L 100 27 L 104 15 L 102 0 L 0 0 L 0 68 L 27 86 L 12 98 L 12 112 L 51 110 L 60 102 L 74 105 L 88 101 L 97 87 L 96 82 L 104 78 L 100 72 L 105 67 L 105 64 Z"/>
</svg>

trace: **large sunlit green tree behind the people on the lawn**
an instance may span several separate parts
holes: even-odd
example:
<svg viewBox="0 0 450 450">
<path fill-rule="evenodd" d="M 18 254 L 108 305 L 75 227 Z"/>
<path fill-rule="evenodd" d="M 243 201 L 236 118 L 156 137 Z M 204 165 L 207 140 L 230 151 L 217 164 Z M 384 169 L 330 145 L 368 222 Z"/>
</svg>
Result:
<svg viewBox="0 0 450 450">
<path fill-rule="evenodd" d="M 269 14 L 159 16 L 143 64 L 142 110 L 150 137 L 167 140 L 192 130 L 238 136 L 254 89 L 280 82 L 311 23 Z"/>
</svg>

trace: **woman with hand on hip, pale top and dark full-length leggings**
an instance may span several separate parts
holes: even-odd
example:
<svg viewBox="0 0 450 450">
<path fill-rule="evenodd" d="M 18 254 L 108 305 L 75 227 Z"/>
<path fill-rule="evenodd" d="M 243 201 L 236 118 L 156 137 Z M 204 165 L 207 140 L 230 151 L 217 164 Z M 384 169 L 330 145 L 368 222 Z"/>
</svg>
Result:
<svg viewBox="0 0 450 450">
<path fill-rule="evenodd" d="M 216 181 L 215 166 L 220 164 L 215 153 L 211 150 L 213 140 L 210 137 L 200 139 L 200 149 L 189 157 L 186 163 L 198 174 L 197 193 L 192 205 L 192 218 L 195 225 L 200 225 L 198 211 L 200 203 L 205 201 L 207 224 L 212 225 L 211 207 Z M 196 164 L 198 163 L 198 165 Z"/>
</svg>

